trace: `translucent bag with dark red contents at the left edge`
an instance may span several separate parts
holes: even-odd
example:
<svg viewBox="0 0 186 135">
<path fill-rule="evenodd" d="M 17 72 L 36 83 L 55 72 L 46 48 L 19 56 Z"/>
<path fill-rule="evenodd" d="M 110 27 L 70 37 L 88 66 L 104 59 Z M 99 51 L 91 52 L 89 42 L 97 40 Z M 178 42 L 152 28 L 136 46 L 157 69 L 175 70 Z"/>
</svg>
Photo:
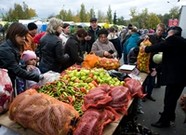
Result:
<svg viewBox="0 0 186 135">
<path fill-rule="evenodd" d="M 0 68 L 0 76 L 0 114 L 2 114 L 8 111 L 13 100 L 13 87 L 6 69 Z"/>
</svg>

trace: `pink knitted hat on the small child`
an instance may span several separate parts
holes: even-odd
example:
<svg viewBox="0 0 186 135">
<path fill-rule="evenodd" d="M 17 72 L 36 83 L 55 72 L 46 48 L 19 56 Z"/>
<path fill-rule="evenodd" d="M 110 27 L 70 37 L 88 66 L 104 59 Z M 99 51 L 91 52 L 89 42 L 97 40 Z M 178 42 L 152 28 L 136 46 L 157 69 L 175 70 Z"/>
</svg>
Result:
<svg viewBox="0 0 186 135">
<path fill-rule="evenodd" d="M 31 51 L 31 50 L 24 51 L 22 54 L 22 60 L 24 62 L 27 62 L 28 60 L 36 59 L 36 58 L 37 58 L 37 56 L 36 56 L 35 52 Z"/>
</svg>

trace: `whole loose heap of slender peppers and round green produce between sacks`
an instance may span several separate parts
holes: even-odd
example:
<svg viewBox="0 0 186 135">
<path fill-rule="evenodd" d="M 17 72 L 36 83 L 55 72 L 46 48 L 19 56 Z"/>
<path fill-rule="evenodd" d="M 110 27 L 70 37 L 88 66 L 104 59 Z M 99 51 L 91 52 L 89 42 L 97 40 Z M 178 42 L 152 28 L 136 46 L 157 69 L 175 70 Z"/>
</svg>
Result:
<svg viewBox="0 0 186 135">
<path fill-rule="evenodd" d="M 112 78 L 103 68 L 93 68 L 90 70 L 73 68 L 62 73 L 59 80 L 42 86 L 38 91 L 71 104 L 81 115 L 83 96 L 90 89 L 100 84 L 121 86 L 124 85 L 124 81 Z"/>
</svg>

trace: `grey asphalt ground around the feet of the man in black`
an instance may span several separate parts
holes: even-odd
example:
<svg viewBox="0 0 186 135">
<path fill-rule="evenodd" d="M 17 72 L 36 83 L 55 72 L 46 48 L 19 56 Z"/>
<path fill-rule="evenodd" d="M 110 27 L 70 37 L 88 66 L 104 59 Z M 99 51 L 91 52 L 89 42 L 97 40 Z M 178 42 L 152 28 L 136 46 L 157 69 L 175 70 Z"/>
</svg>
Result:
<svg viewBox="0 0 186 135">
<path fill-rule="evenodd" d="M 142 102 L 144 114 L 137 115 L 137 122 L 149 128 L 151 131 L 159 133 L 159 135 L 186 135 L 186 123 L 184 124 L 185 113 L 179 103 L 176 108 L 175 126 L 169 128 L 155 128 L 151 126 L 151 123 L 157 122 L 160 118 L 159 112 L 163 111 L 164 92 L 165 86 L 153 89 L 152 97 L 154 97 L 156 101 L 146 100 L 146 102 Z M 186 93 L 186 88 L 182 94 L 184 93 Z"/>
</svg>

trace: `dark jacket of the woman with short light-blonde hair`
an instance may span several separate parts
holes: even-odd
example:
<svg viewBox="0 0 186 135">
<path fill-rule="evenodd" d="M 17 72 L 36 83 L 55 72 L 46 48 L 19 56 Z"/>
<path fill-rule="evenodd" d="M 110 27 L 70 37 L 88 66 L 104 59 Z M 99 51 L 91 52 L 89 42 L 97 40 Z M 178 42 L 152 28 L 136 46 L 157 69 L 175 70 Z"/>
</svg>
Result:
<svg viewBox="0 0 186 135">
<path fill-rule="evenodd" d="M 69 55 L 64 53 L 61 39 L 55 34 L 47 33 L 40 40 L 41 60 L 39 69 L 41 73 L 49 70 L 61 72 L 62 65 L 69 60 Z"/>
</svg>

